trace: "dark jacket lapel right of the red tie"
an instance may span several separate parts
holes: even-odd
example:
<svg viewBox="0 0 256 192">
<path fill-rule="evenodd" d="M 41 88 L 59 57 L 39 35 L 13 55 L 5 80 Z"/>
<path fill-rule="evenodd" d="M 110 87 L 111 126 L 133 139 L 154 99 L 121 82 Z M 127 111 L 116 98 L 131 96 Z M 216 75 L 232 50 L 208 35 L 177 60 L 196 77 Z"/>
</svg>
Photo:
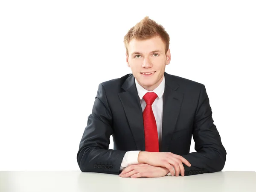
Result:
<svg viewBox="0 0 256 192">
<path fill-rule="evenodd" d="M 179 85 L 171 75 L 165 73 L 165 90 L 163 93 L 163 122 L 162 122 L 162 147 L 161 152 L 168 151 L 172 140 L 176 122 L 180 113 L 183 93 L 177 91 Z"/>
</svg>

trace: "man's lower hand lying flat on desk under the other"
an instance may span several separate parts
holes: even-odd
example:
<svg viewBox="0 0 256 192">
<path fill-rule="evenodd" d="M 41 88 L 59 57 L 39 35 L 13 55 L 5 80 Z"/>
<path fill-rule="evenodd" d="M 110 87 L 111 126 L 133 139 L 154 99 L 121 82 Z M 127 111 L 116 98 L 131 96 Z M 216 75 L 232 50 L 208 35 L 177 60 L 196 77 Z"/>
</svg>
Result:
<svg viewBox="0 0 256 192">
<path fill-rule="evenodd" d="M 148 164 L 140 163 L 136 165 L 129 165 L 122 170 L 120 177 L 163 177 L 169 173 L 165 167 L 155 167 Z"/>
</svg>

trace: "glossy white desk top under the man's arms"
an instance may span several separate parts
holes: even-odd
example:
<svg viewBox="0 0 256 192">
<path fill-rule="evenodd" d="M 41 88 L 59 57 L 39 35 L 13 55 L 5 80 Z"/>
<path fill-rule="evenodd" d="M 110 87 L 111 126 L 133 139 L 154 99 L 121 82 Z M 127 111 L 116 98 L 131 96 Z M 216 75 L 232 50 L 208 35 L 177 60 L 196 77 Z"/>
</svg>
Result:
<svg viewBox="0 0 256 192">
<path fill-rule="evenodd" d="M 58 172 L 0 172 L 0 192 L 256 192 L 256 172 L 215 172 L 185 177 L 122 178 Z"/>
</svg>

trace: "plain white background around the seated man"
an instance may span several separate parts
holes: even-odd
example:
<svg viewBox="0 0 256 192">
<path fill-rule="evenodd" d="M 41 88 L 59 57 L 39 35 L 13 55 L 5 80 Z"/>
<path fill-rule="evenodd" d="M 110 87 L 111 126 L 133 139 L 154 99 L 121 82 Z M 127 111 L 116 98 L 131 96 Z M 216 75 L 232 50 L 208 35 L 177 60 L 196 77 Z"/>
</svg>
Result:
<svg viewBox="0 0 256 192">
<path fill-rule="evenodd" d="M 223 171 L 256 171 L 253 2 L 1 1 L 0 170 L 79 170 L 98 85 L 131 73 L 123 37 L 149 16 L 171 38 L 166 72 L 206 86 Z"/>
</svg>

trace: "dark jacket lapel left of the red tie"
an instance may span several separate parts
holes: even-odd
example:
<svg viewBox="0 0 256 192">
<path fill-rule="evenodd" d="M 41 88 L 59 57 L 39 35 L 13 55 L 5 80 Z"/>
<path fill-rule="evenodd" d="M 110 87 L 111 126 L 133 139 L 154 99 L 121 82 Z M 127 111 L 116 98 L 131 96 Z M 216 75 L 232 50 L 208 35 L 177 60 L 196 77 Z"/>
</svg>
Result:
<svg viewBox="0 0 256 192">
<path fill-rule="evenodd" d="M 122 85 L 122 89 L 125 92 L 119 93 L 118 95 L 130 125 L 137 150 L 145 151 L 143 113 L 133 75 L 126 79 Z"/>
</svg>

